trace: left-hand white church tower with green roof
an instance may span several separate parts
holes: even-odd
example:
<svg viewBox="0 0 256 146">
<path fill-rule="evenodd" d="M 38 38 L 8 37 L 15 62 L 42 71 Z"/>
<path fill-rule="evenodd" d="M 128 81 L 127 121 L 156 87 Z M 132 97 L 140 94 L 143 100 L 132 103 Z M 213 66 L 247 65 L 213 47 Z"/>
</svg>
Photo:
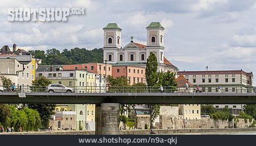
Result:
<svg viewBox="0 0 256 146">
<path fill-rule="evenodd" d="M 122 29 L 116 23 L 109 23 L 104 30 L 104 61 L 117 63 L 117 49 L 121 49 Z"/>
</svg>

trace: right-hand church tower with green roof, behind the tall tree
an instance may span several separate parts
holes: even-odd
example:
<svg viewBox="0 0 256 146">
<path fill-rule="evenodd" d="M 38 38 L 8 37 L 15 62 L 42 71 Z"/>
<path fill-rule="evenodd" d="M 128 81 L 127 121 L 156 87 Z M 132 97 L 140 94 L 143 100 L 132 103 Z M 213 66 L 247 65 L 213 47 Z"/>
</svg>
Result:
<svg viewBox="0 0 256 146">
<path fill-rule="evenodd" d="M 158 63 L 164 63 L 164 27 L 159 22 L 152 22 L 147 29 L 147 57 L 155 53 Z"/>
</svg>

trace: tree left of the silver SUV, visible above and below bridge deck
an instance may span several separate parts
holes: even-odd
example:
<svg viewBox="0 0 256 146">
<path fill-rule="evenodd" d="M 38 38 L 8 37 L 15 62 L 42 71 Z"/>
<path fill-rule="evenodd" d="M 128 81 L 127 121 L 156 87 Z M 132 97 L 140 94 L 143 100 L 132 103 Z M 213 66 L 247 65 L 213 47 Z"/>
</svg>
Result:
<svg viewBox="0 0 256 146">
<path fill-rule="evenodd" d="M 42 87 L 47 87 L 49 84 L 51 84 L 51 81 L 47 79 L 46 77 L 42 76 L 34 81 L 32 81 L 32 88 L 33 89 L 42 89 Z M 29 104 L 28 108 L 35 109 L 39 112 L 41 124 L 40 128 L 47 128 L 49 125 L 49 119 L 51 118 L 51 115 L 55 114 L 56 105 L 53 104 Z"/>
</svg>

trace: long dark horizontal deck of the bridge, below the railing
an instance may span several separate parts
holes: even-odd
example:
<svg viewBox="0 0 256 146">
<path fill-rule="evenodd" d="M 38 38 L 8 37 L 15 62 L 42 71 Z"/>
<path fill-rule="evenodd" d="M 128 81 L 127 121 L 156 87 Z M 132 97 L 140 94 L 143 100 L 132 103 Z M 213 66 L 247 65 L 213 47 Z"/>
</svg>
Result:
<svg viewBox="0 0 256 146">
<path fill-rule="evenodd" d="M 0 93 L 9 104 L 256 104 L 256 93 Z"/>
</svg>

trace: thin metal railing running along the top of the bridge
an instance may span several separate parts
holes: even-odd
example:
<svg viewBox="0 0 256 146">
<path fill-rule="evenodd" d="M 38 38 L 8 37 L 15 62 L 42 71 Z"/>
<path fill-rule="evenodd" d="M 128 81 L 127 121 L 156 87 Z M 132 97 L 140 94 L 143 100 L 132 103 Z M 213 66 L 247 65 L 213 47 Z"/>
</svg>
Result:
<svg viewBox="0 0 256 146">
<path fill-rule="evenodd" d="M 0 92 L 73 92 L 73 93 L 255 93 L 255 87 L 242 86 L 200 86 L 200 87 L 160 87 L 160 86 L 0 86 Z"/>
</svg>

